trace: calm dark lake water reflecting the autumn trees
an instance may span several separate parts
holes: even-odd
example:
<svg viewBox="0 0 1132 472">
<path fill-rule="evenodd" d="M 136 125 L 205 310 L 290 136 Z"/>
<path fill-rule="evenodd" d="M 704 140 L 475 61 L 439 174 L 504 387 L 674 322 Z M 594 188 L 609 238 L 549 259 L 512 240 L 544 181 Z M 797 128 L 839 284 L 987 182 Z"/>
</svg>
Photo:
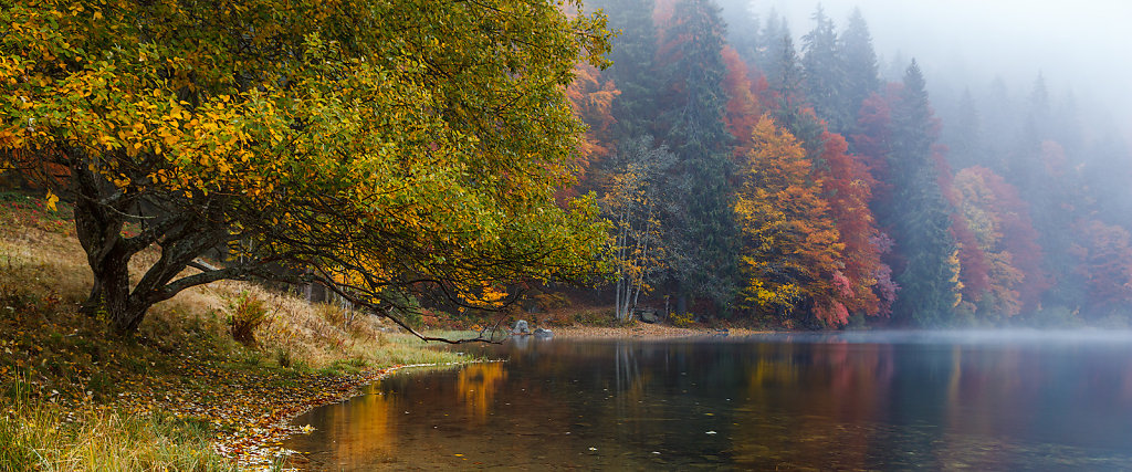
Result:
<svg viewBox="0 0 1132 472">
<path fill-rule="evenodd" d="M 307 467 L 1132 471 L 1132 334 L 525 340 L 295 419 Z"/>
</svg>

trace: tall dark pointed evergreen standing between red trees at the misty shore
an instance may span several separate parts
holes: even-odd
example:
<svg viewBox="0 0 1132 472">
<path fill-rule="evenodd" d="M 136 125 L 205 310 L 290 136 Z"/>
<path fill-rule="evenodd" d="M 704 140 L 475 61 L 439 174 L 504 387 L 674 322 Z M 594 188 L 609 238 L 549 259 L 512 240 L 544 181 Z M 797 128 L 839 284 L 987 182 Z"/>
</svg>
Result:
<svg viewBox="0 0 1132 472">
<path fill-rule="evenodd" d="M 904 72 L 892 125 L 892 218 L 897 246 L 906 260 L 897 277 L 902 289 L 893 316 L 924 327 L 945 326 L 959 303 L 958 254 L 949 231 L 951 209 L 932 158 L 938 121 L 933 117 L 924 75 L 915 60 Z"/>
</svg>

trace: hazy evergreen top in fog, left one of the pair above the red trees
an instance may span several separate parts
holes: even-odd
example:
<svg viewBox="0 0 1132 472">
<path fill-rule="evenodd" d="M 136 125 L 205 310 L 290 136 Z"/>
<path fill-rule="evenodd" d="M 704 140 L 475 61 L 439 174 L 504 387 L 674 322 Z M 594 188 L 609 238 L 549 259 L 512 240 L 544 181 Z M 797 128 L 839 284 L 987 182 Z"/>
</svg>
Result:
<svg viewBox="0 0 1132 472">
<path fill-rule="evenodd" d="M 817 25 L 801 37 L 805 55 L 801 66 L 805 74 L 806 98 L 814 106 L 817 117 L 825 120 L 830 130 L 843 132 L 849 129 L 855 117 L 850 117 L 844 104 L 846 65 L 838 44 L 833 20 L 825 16 L 822 6 L 813 16 Z"/>
</svg>

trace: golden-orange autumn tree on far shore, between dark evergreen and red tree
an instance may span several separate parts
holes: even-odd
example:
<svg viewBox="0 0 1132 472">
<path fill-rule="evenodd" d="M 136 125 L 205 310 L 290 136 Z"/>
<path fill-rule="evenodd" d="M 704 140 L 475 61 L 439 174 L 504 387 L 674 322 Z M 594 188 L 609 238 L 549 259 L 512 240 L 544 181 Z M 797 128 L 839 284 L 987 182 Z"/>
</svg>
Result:
<svg viewBox="0 0 1132 472">
<path fill-rule="evenodd" d="M 813 314 L 833 326 L 844 324 L 842 300 L 852 289 L 833 281 L 844 244 L 820 196 L 822 182 L 813 180 L 801 145 L 769 115 L 760 119 L 753 139 L 735 203 L 744 306 L 764 318 Z"/>
</svg>

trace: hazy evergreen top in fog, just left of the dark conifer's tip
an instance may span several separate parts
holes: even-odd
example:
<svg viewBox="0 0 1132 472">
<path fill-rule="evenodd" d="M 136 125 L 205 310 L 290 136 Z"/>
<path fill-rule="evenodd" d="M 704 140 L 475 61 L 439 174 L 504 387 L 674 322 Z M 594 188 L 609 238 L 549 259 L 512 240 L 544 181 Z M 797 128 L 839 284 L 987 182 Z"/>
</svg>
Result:
<svg viewBox="0 0 1132 472">
<path fill-rule="evenodd" d="M 855 125 L 861 103 L 874 92 L 881 92 L 873 36 L 868 32 L 868 24 L 865 23 L 860 8 L 854 8 L 852 15 L 849 16 L 849 24 L 844 33 L 841 33 L 840 46 L 846 67 L 844 110 L 849 115 L 850 126 L 856 130 Z M 843 135 L 849 135 L 848 129 L 843 131 L 846 131 Z"/>
</svg>

